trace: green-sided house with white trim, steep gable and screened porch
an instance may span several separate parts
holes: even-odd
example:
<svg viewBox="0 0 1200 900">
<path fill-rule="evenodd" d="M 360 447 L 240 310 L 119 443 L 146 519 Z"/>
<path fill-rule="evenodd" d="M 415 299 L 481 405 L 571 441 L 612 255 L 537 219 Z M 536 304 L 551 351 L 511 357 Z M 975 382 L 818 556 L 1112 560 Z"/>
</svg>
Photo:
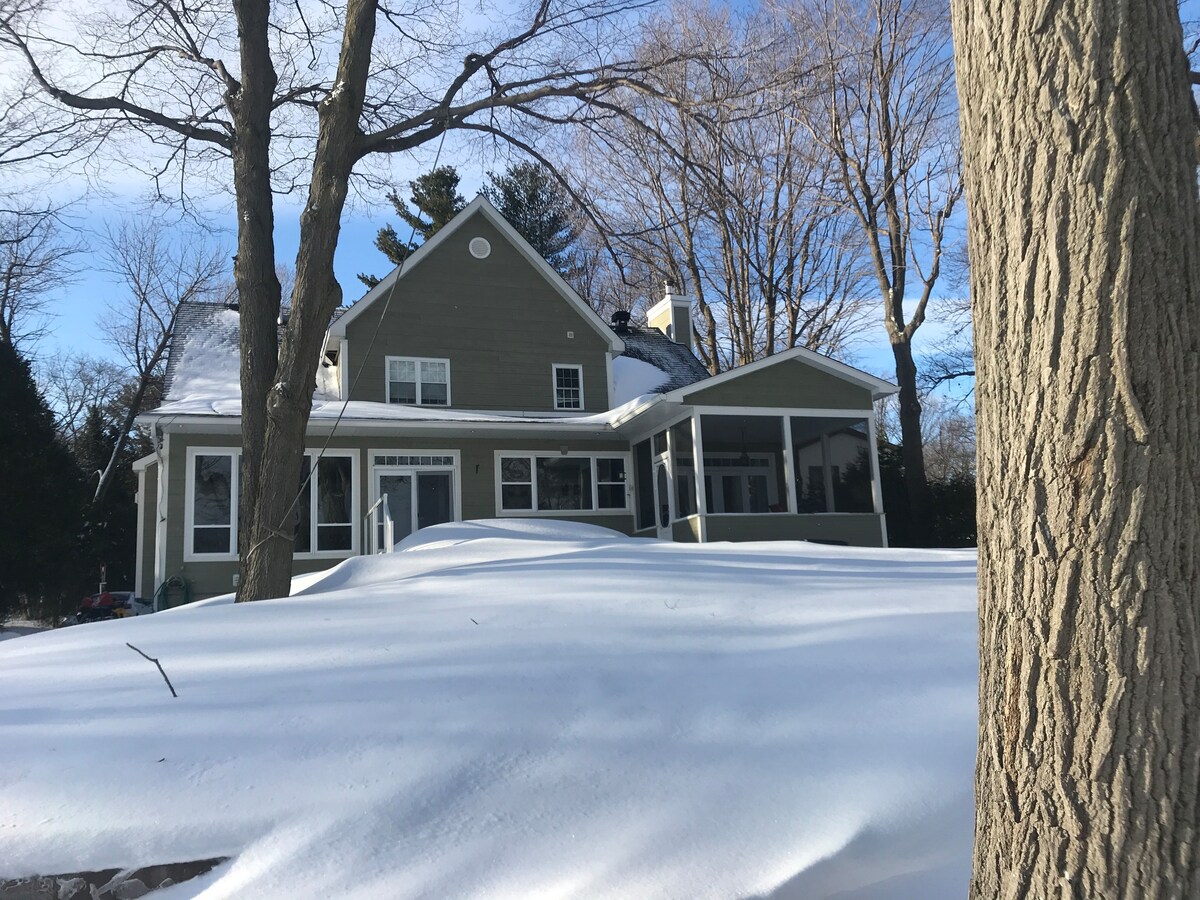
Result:
<svg viewBox="0 0 1200 900">
<path fill-rule="evenodd" d="M 295 572 L 493 517 L 883 546 L 872 401 L 893 385 L 804 349 L 709 376 L 670 287 L 646 326 L 613 318 L 475 199 L 330 324 Z M 238 325 L 185 304 L 139 419 L 157 449 L 136 463 L 136 590 L 162 605 L 235 584 Z"/>
</svg>

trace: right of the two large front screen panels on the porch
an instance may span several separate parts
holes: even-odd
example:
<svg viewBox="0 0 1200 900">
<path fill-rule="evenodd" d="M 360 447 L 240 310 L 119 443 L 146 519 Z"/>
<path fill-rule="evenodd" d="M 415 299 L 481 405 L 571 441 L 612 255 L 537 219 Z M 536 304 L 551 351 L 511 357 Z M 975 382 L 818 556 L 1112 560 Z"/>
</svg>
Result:
<svg viewBox="0 0 1200 900">
<path fill-rule="evenodd" d="M 874 512 L 866 419 L 791 418 L 800 512 Z"/>
</svg>

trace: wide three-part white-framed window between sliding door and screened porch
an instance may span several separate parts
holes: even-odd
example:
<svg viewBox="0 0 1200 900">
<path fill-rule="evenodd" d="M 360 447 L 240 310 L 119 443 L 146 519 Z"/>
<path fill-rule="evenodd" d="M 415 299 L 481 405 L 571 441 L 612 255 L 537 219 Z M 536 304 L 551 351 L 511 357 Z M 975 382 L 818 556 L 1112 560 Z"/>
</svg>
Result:
<svg viewBox="0 0 1200 900">
<path fill-rule="evenodd" d="M 626 510 L 625 467 L 623 456 L 504 454 L 499 511 Z"/>
</svg>

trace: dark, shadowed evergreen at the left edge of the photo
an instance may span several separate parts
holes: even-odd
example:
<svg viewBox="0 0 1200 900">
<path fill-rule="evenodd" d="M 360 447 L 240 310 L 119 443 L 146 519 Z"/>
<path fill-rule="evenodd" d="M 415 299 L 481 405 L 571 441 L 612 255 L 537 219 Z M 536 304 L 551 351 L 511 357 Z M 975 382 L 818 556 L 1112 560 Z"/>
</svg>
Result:
<svg viewBox="0 0 1200 900">
<path fill-rule="evenodd" d="M 2 342 L 0 408 L 0 618 L 20 606 L 61 612 L 80 574 L 83 485 L 29 364 Z"/>
</svg>

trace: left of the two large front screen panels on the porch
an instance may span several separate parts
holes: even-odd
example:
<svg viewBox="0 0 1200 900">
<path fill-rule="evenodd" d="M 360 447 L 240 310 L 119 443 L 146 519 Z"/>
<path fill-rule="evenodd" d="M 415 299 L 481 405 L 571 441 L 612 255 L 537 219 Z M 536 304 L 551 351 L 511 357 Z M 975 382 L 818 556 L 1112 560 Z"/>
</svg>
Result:
<svg viewBox="0 0 1200 900">
<path fill-rule="evenodd" d="M 709 512 L 787 511 L 784 416 L 704 415 L 701 434 Z"/>
</svg>

